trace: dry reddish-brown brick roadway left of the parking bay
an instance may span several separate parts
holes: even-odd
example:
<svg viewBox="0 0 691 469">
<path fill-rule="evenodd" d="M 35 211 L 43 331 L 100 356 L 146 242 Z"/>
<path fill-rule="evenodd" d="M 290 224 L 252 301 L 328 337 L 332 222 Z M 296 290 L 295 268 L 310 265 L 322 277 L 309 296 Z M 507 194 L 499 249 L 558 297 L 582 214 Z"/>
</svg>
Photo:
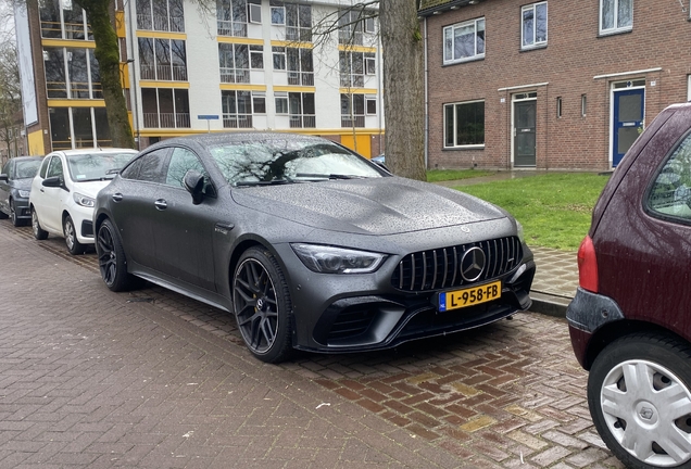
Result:
<svg viewBox="0 0 691 469">
<path fill-rule="evenodd" d="M 456 465 L 4 225 L 0 265 L 0 467 Z"/>
</svg>

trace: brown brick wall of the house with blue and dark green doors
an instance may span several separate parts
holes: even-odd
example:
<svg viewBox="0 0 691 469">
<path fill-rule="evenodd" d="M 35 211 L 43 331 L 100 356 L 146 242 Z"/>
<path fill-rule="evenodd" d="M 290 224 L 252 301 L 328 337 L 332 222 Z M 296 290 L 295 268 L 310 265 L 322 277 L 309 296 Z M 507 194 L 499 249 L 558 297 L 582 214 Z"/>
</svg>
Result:
<svg viewBox="0 0 691 469">
<path fill-rule="evenodd" d="M 551 0 L 548 46 L 522 51 L 526 4 L 486 0 L 426 17 L 430 168 L 511 168 L 516 93 L 537 92 L 536 166 L 548 169 L 611 168 L 614 83 L 645 80 L 646 125 L 668 104 L 687 101 L 691 23 L 679 2 L 633 0 L 632 30 L 600 36 L 598 0 Z M 444 66 L 443 27 L 478 17 L 486 20 L 485 59 Z M 637 71 L 649 72 L 629 73 Z M 557 98 L 563 105 L 558 118 Z M 444 149 L 443 105 L 470 100 L 485 100 L 485 148 Z"/>
</svg>

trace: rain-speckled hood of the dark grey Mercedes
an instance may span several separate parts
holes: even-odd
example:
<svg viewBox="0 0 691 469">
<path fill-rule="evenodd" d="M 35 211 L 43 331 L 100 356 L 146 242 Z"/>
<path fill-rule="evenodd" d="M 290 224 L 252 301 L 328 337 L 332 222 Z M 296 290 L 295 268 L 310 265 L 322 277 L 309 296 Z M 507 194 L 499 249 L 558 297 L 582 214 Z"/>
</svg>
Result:
<svg viewBox="0 0 691 469">
<path fill-rule="evenodd" d="M 506 216 L 466 193 L 399 177 L 233 189 L 248 208 L 313 228 L 393 234 Z"/>
</svg>

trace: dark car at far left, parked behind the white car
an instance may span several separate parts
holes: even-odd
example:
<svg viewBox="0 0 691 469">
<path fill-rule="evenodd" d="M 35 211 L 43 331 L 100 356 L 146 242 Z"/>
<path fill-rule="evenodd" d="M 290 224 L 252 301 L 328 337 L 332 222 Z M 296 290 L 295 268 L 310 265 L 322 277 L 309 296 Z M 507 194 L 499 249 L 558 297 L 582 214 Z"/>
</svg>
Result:
<svg viewBox="0 0 691 469">
<path fill-rule="evenodd" d="M 28 194 L 32 179 L 41 165 L 42 156 L 17 156 L 10 159 L 0 174 L 0 218 L 12 218 L 14 226 L 28 223 L 32 213 Z"/>
</svg>

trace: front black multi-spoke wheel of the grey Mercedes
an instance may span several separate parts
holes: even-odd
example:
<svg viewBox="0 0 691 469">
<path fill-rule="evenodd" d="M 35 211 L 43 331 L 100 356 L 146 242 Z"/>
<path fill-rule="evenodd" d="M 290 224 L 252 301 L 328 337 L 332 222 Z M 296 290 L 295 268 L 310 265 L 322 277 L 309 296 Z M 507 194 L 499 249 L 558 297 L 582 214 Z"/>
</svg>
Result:
<svg viewBox="0 0 691 469">
<path fill-rule="evenodd" d="M 233 277 L 233 306 L 244 344 L 262 362 L 279 363 L 292 353 L 292 304 L 276 257 L 250 248 Z"/>
</svg>

